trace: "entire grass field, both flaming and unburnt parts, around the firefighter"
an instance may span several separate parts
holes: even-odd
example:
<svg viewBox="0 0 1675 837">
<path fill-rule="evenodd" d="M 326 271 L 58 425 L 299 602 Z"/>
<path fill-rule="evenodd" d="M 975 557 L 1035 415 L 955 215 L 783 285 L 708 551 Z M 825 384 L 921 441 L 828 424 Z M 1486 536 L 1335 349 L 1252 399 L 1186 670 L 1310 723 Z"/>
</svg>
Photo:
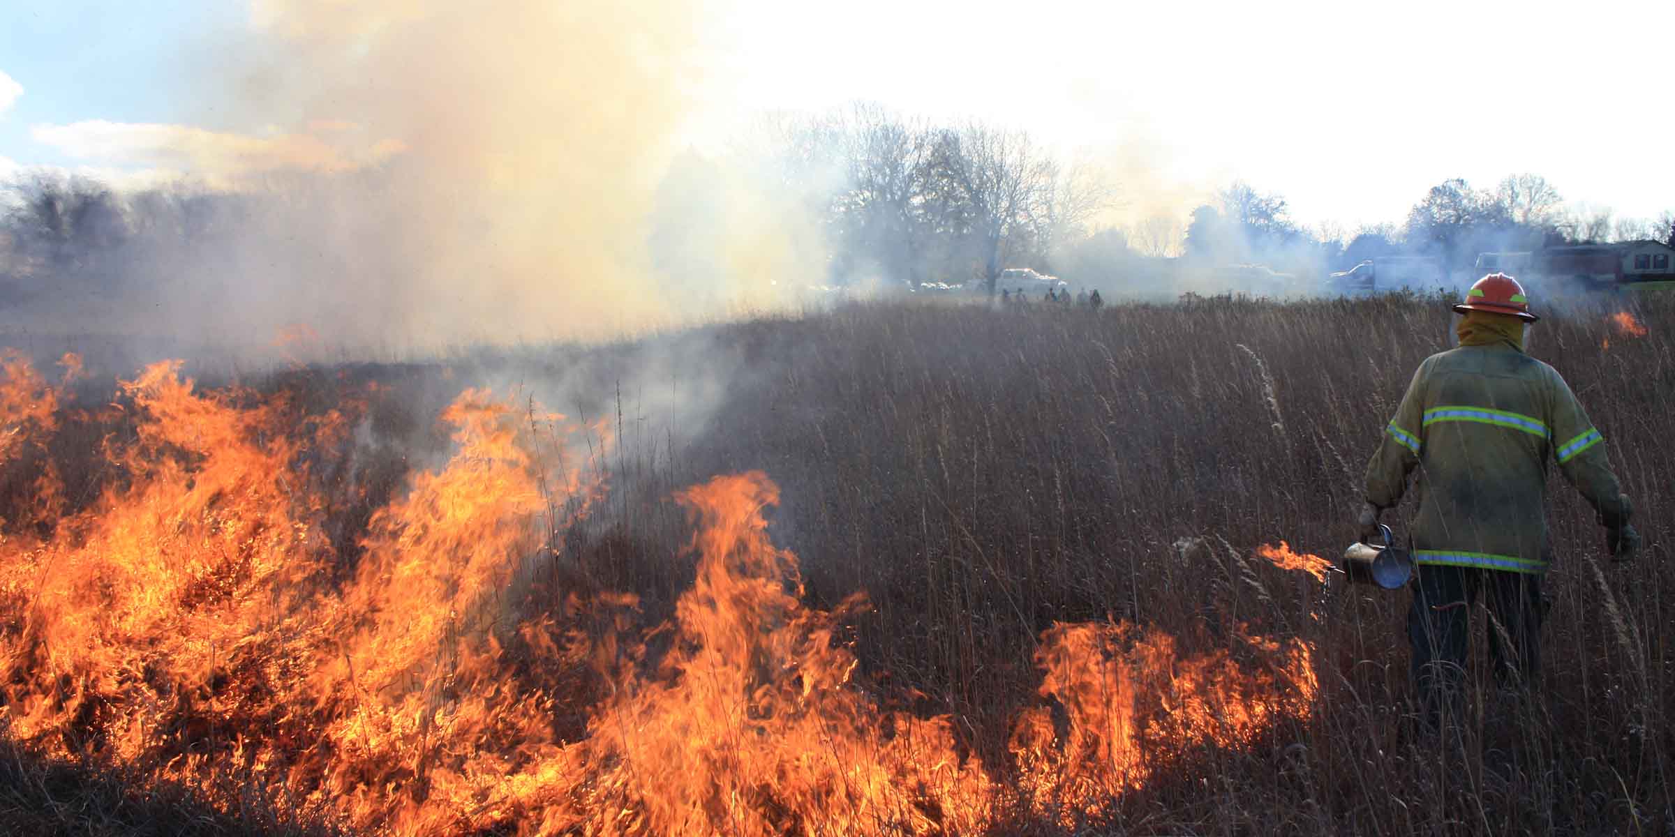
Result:
<svg viewBox="0 0 1675 837">
<path fill-rule="evenodd" d="M 1675 452 L 1635 417 L 1668 410 L 1667 330 L 1605 362 L 1615 323 L 1549 321 L 1536 353 L 1660 507 Z M 414 432 L 424 370 L 164 363 L 82 407 L 13 353 L 7 737 L 89 798 L 121 777 L 251 829 L 1652 827 L 1663 643 L 1621 638 L 1668 631 L 1655 514 L 1625 586 L 1556 504 L 1548 710 L 1461 747 L 1404 721 L 1405 601 L 1317 557 L 1446 325 L 1404 300 L 742 323 L 719 335 L 750 373 L 662 449 L 469 388 Z"/>
</svg>

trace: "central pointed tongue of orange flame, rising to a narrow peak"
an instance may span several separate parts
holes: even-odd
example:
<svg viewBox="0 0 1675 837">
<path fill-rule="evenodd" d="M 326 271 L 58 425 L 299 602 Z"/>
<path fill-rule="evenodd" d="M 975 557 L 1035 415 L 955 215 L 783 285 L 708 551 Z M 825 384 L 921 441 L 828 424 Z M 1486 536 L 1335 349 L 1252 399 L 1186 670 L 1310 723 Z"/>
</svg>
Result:
<svg viewBox="0 0 1675 837">
<path fill-rule="evenodd" d="M 760 514 L 779 489 L 742 474 L 678 499 L 698 524 L 698 571 L 677 606 L 677 650 L 593 711 L 571 770 L 548 777 L 544 793 L 568 802 L 548 822 L 593 830 L 621 812 L 648 834 L 977 830 L 993 787 L 960 758 L 950 720 L 884 713 L 849 685 L 856 658 L 832 631 L 864 601 L 824 613 L 794 596 L 796 556 L 769 542 Z"/>
</svg>

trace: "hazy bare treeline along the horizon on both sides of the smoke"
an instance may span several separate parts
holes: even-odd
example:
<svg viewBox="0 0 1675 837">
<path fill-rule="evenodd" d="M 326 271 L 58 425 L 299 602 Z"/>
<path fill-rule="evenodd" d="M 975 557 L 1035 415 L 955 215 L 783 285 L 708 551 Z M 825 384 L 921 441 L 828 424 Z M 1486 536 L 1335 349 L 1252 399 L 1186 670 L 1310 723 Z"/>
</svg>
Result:
<svg viewBox="0 0 1675 837">
<path fill-rule="evenodd" d="M 1122 184 L 1057 159 L 1023 131 L 933 124 L 861 105 L 779 121 L 757 139 L 734 152 L 739 159 L 675 159 L 645 229 L 647 251 L 665 275 L 690 275 L 712 248 L 705 213 L 693 208 L 712 199 L 724 169 L 750 171 L 752 187 L 772 193 L 774 213 L 797 216 L 811 231 L 796 246 L 824 249 L 824 275 L 796 278 L 804 285 L 946 283 L 998 293 L 1002 270 L 1027 266 L 1082 288 L 1169 295 L 1179 276 L 1231 264 L 1313 280 L 1390 254 L 1439 256 L 1466 270 L 1484 251 L 1628 239 L 1675 246 L 1675 211 L 1616 219 L 1576 209 L 1538 174 L 1509 176 L 1494 189 L 1449 179 L 1400 224 L 1360 229 L 1303 226 L 1283 196 L 1245 182 L 1179 218 L 1100 226 L 1122 201 Z M 87 177 L 27 174 L 0 186 L 0 306 L 124 290 L 147 281 L 134 278 L 134 266 L 156 264 L 159 254 L 250 249 L 253 224 L 245 221 L 275 196 L 307 201 L 285 189 L 117 191 Z"/>
</svg>

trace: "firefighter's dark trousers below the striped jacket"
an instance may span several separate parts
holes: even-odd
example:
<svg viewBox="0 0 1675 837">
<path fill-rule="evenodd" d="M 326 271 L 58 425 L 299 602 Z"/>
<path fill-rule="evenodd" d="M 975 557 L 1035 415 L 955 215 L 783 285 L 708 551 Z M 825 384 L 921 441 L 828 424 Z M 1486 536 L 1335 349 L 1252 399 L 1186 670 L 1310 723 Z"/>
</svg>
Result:
<svg viewBox="0 0 1675 837">
<path fill-rule="evenodd" d="M 1528 690 L 1541 675 L 1541 576 L 1420 564 L 1407 611 L 1412 676 L 1425 720 L 1466 710 L 1466 650 L 1472 603 L 1489 611 L 1489 661 L 1501 686 Z M 1497 624 L 1499 623 L 1499 624 Z"/>
</svg>

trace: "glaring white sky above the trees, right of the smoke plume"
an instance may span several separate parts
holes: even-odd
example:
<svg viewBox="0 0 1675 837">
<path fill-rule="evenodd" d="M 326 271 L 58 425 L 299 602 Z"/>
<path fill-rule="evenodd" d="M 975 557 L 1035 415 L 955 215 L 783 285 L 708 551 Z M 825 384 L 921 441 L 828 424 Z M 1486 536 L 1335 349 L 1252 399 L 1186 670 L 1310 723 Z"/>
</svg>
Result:
<svg viewBox="0 0 1675 837">
<path fill-rule="evenodd" d="M 1447 177 L 1539 172 L 1576 201 L 1670 201 L 1675 3 L 750 3 L 715 59 L 744 109 L 1023 126 L 1139 203 L 1231 179 L 1305 223 L 1395 221 Z M 1161 208 L 1159 208 L 1161 209 Z M 1183 208 L 1189 209 L 1189 208 Z"/>
</svg>

